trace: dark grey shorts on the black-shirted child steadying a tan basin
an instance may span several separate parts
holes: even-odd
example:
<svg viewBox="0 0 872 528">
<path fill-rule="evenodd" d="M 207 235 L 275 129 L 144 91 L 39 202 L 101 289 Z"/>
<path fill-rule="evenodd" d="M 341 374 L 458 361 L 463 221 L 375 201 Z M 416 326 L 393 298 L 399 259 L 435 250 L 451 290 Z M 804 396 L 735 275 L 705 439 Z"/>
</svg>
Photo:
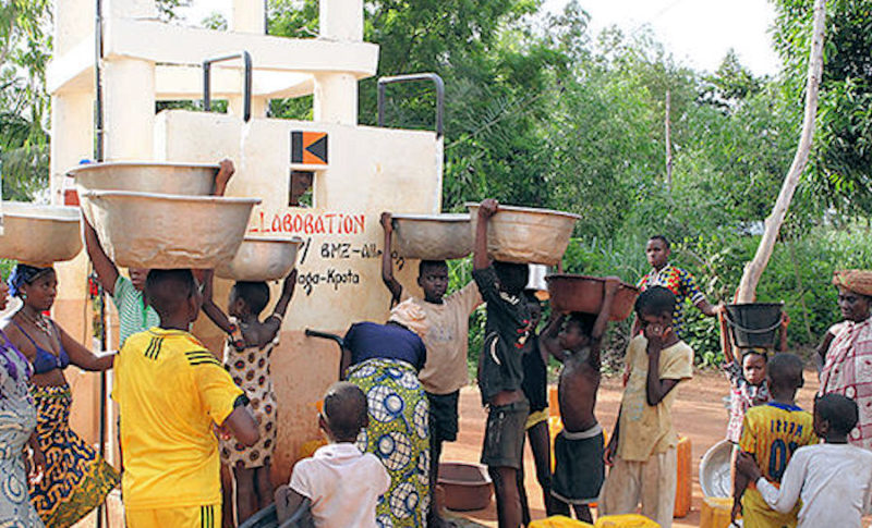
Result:
<svg viewBox="0 0 872 528">
<path fill-rule="evenodd" d="M 521 468 L 530 404 L 526 400 L 508 405 L 491 405 L 484 431 L 482 464 L 488 467 Z"/>
</svg>

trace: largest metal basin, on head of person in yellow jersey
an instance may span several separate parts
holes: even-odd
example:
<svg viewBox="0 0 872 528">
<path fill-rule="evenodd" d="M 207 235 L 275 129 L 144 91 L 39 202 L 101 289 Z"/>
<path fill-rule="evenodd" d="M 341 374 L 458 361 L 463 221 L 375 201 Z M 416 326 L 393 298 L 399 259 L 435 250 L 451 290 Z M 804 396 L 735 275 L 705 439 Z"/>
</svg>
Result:
<svg viewBox="0 0 872 528">
<path fill-rule="evenodd" d="M 259 198 L 86 191 L 94 228 L 112 260 L 129 268 L 211 269 L 237 255 Z"/>
</svg>

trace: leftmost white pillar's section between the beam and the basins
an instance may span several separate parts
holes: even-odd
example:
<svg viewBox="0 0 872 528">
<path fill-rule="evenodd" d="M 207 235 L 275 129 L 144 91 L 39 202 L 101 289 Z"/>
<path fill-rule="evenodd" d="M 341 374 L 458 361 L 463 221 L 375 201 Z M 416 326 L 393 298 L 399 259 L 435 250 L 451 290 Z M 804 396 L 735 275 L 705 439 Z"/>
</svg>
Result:
<svg viewBox="0 0 872 528">
<path fill-rule="evenodd" d="M 64 171 L 94 157 L 94 94 L 64 93 L 51 98 L 50 152 L 51 201 L 63 204 Z"/>
</svg>

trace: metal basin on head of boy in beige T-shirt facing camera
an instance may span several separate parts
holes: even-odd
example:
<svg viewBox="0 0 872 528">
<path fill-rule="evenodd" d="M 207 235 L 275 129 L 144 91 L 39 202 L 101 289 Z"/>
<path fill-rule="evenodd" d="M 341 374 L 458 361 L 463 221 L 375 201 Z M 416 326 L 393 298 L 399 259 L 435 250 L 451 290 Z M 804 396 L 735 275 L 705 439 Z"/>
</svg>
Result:
<svg viewBox="0 0 872 528">
<path fill-rule="evenodd" d="M 393 214 L 397 255 L 422 260 L 450 260 L 472 253 L 469 213 Z"/>
</svg>

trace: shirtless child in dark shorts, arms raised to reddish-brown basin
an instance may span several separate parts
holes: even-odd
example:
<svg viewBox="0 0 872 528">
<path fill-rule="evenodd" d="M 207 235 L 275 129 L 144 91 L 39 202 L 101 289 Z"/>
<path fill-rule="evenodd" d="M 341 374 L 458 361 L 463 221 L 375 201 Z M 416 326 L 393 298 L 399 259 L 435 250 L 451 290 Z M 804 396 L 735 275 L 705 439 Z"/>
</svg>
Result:
<svg viewBox="0 0 872 528">
<path fill-rule="evenodd" d="M 620 281 L 609 277 L 600 314 L 553 317 L 542 335 L 542 347 L 564 363 L 557 397 L 564 430 L 554 441 L 554 513 L 593 523 L 590 504 L 600 496 L 605 479 L 603 427 L 596 421 L 600 389 L 600 346 Z M 562 327 L 562 329 L 561 329 Z"/>
</svg>

